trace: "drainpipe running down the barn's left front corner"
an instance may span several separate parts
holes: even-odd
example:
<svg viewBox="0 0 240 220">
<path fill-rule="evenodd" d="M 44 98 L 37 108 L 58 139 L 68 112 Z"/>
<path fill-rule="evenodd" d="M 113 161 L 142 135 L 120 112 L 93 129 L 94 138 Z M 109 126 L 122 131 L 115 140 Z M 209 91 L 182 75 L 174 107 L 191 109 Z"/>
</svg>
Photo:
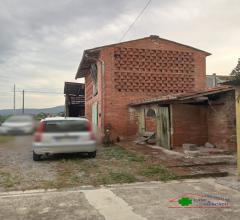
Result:
<svg viewBox="0 0 240 220">
<path fill-rule="evenodd" d="M 95 57 L 90 57 L 88 56 L 87 54 L 85 55 L 85 57 L 87 58 L 90 58 L 90 59 L 93 59 L 95 61 L 99 61 L 101 63 L 101 75 L 102 75 L 102 94 L 101 94 L 101 129 L 102 129 L 102 132 L 104 133 L 104 96 L 105 96 L 105 63 L 102 59 L 100 58 L 95 58 Z"/>
</svg>

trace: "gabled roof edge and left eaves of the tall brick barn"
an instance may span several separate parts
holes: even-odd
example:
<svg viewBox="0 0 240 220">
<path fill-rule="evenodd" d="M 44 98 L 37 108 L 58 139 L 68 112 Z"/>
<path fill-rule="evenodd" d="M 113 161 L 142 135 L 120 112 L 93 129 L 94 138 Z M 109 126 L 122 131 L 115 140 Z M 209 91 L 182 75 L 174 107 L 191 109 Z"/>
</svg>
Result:
<svg viewBox="0 0 240 220">
<path fill-rule="evenodd" d="M 177 44 L 179 46 L 183 46 L 183 47 L 190 48 L 190 49 L 196 50 L 198 52 L 204 53 L 206 56 L 211 55 L 210 53 L 208 53 L 208 52 L 206 52 L 204 50 L 197 49 L 195 47 L 191 47 L 191 46 L 188 46 L 188 45 L 185 45 L 185 44 L 181 44 L 181 43 L 178 43 L 178 42 L 175 42 L 175 41 L 171 41 L 171 40 L 167 40 L 167 39 L 164 39 L 164 38 L 160 38 L 157 35 L 150 35 L 149 37 L 144 37 L 144 38 L 140 38 L 140 39 L 119 42 L 119 43 L 115 43 L 115 44 L 108 44 L 108 45 L 104 45 L 104 46 L 95 47 L 95 48 L 92 48 L 92 49 L 85 50 L 83 52 L 82 60 L 81 60 L 81 62 L 79 64 L 79 66 L 78 66 L 78 70 L 77 70 L 75 79 L 84 77 L 86 75 L 86 72 L 90 68 L 90 65 L 92 63 L 96 62 L 96 60 L 99 59 L 100 52 L 101 52 L 102 49 L 104 49 L 106 47 L 120 46 L 120 45 L 125 44 L 125 43 L 131 43 L 131 42 L 145 40 L 145 39 L 155 39 L 155 40 L 167 41 L 167 42 L 170 42 L 170 43 Z"/>
</svg>

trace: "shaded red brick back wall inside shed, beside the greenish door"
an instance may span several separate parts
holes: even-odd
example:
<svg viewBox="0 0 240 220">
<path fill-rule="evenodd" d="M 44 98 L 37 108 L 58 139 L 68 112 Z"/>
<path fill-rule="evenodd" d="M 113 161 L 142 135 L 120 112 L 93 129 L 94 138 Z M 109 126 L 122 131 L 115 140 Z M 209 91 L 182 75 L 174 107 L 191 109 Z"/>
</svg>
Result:
<svg viewBox="0 0 240 220">
<path fill-rule="evenodd" d="M 208 140 L 207 106 L 173 104 L 172 128 L 173 148 L 184 143 L 204 145 Z"/>
</svg>

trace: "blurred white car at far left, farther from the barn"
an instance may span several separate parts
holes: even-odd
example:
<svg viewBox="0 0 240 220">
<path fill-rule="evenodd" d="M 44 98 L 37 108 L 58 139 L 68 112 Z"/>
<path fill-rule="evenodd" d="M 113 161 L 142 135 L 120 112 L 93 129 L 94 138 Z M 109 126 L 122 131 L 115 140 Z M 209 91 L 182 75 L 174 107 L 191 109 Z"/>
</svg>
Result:
<svg viewBox="0 0 240 220">
<path fill-rule="evenodd" d="M 32 134 L 35 122 L 30 115 L 13 115 L 4 121 L 0 127 L 0 134 Z"/>
</svg>

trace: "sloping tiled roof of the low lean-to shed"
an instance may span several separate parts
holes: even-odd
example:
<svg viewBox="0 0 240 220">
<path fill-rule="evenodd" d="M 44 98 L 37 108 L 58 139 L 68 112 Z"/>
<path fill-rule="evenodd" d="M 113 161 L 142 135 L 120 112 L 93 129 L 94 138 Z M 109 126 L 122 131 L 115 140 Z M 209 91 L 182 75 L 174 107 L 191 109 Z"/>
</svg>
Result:
<svg viewBox="0 0 240 220">
<path fill-rule="evenodd" d="M 171 95 L 165 95 L 165 96 L 158 96 L 155 98 L 137 100 L 130 103 L 129 105 L 140 106 L 140 105 L 153 104 L 153 103 L 168 103 L 171 101 L 184 101 L 188 99 L 204 97 L 204 96 L 218 94 L 218 93 L 224 93 L 232 90 L 234 90 L 234 88 L 230 86 L 219 86 L 219 87 L 214 87 L 206 90 L 193 91 L 188 93 L 177 93 L 177 94 L 171 94 Z"/>
</svg>

